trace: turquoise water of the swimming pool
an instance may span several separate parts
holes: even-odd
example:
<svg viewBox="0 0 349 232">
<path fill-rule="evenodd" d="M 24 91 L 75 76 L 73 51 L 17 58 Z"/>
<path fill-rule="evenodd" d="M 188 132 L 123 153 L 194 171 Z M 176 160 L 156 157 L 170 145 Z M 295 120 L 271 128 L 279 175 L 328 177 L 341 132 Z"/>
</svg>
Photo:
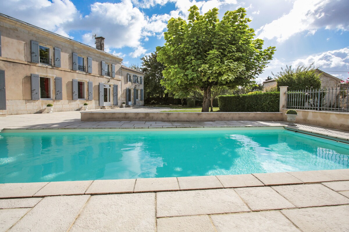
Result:
<svg viewBox="0 0 349 232">
<path fill-rule="evenodd" d="M 349 145 L 285 129 L 1 133 L 0 183 L 349 168 Z"/>
</svg>

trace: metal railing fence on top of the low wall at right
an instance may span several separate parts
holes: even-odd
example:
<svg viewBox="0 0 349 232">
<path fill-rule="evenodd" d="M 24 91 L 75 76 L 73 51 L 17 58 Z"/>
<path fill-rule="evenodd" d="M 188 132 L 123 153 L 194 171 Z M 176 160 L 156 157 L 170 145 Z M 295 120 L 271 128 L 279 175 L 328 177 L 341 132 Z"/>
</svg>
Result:
<svg viewBox="0 0 349 232">
<path fill-rule="evenodd" d="M 349 88 L 303 89 L 286 93 L 287 109 L 349 112 Z"/>
</svg>

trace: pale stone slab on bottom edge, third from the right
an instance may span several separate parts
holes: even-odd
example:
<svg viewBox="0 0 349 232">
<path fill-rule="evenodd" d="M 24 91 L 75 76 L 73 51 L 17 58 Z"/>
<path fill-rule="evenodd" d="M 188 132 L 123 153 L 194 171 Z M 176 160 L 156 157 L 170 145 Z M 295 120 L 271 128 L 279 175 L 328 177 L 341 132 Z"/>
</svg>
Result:
<svg viewBox="0 0 349 232">
<path fill-rule="evenodd" d="M 157 219 L 157 232 L 215 232 L 208 215 Z"/>
</svg>

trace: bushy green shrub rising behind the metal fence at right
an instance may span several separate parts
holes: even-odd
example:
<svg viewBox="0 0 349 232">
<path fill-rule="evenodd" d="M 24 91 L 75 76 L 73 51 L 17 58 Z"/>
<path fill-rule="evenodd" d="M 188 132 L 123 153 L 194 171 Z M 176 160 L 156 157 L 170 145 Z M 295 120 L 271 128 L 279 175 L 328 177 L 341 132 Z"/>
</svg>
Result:
<svg viewBox="0 0 349 232">
<path fill-rule="evenodd" d="M 300 90 L 305 88 L 320 89 L 321 80 L 320 74 L 315 71 L 313 64 L 305 67 L 298 66 L 296 69 L 292 69 L 292 65 L 287 66 L 281 71 L 274 74 L 277 87 L 288 86 L 289 90 Z"/>
</svg>

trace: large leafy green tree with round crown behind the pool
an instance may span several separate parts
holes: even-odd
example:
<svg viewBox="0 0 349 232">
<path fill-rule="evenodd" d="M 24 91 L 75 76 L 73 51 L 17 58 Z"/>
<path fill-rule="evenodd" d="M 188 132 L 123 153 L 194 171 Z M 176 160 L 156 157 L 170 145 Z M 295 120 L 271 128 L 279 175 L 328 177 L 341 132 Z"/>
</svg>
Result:
<svg viewBox="0 0 349 232">
<path fill-rule="evenodd" d="M 204 15 L 196 6 L 189 11 L 188 22 L 169 20 L 165 45 L 156 48 L 157 60 L 165 65 L 161 84 L 178 98 L 193 88 L 203 90 L 202 112 L 208 112 L 212 86 L 253 85 L 275 47 L 262 50 L 263 40 L 253 38 L 244 8 L 227 11 L 222 20 L 217 8 Z"/>
</svg>

